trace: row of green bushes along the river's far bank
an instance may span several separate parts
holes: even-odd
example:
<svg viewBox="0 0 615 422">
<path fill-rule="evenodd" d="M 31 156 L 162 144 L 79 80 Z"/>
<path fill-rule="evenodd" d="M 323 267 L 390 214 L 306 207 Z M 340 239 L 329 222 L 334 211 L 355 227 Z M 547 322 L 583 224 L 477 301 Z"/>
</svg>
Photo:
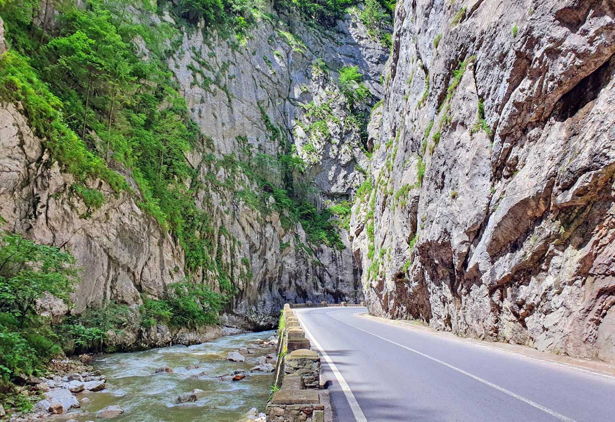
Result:
<svg viewBox="0 0 615 422">
<path fill-rule="evenodd" d="M 50 359 L 62 353 L 105 350 L 108 331 L 121 331 L 132 320 L 127 305 L 109 303 L 68 316 L 54 324 L 38 315 L 37 303 L 49 295 L 70 305 L 79 282 L 73 256 L 39 245 L 18 234 L 0 232 L 0 401 L 20 410 L 32 402 L 15 389 L 17 377 L 44 374 Z M 218 322 L 226 297 L 197 283 L 169 286 L 164 299 L 145 300 L 141 325 L 156 323 L 197 328 Z"/>
</svg>

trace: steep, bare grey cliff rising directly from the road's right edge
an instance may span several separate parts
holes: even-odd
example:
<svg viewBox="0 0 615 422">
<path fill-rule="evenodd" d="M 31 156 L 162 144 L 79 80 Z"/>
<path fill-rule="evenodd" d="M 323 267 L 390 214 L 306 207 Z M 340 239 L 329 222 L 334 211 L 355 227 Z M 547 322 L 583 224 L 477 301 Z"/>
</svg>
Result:
<svg viewBox="0 0 615 422">
<path fill-rule="evenodd" d="M 613 2 L 408 0 L 393 39 L 351 221 L 370 312 L 615 361 Z"/>
</svg>

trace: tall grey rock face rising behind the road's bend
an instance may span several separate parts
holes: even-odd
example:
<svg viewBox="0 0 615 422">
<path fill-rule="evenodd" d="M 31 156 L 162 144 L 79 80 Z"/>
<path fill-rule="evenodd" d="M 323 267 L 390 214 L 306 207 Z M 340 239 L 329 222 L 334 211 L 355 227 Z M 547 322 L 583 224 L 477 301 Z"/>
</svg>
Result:
<svg viewBox="0 0 615 422">
<path fill-rule="evenodd" d="M 204 145 L 204 152 L 189 161 L 204 185 L 202 208 L 228 231 L 216 235 L 217 247 L 224 250 L 222 266 L 231 270 L 239 293 L 225 322 L 244 328 L 275 324 L 284 302 L 361 301 L 357 264 L 346 229 L 340 228 L 343 250 L 306 247 L 301 226 L 285 227 L 279 213 L 247 204 L 238 191 L 258 188 L 242 172 L 212 164 L 206 152 L 249 161 L 256 153 L 284 153 L 290 145 L 308 163 L 301 177 L 312 186 L 317 204 L 350 199 L 360 182 L 355 163 L 365 156 L 331 69 L 359 66 L 378 99 L 382 88 L 377 79 L 387 58 L 356 12 L 328 31 L 305 26 L 296 15 L 274 16 L 263 20 L 241 47 L 210 33 L 186 33 L 170 60 L 192 118 L 213 141 L 213 148 Z M 315 120 L 326 129 L 314 129 Z M 242 277 L 248 273 L 252 277 Z"/>
</svg>

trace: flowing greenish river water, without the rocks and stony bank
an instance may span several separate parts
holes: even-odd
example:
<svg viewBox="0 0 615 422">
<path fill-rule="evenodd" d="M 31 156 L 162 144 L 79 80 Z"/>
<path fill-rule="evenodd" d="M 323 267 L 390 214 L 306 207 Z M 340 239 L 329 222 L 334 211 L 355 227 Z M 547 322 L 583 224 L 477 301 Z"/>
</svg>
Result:
<svg viewBox="0 0 615 422">
<path fill-rule="evenodd" d="M 79 422 L 95 420 L 95 412 L 108 405 L 124 409 L 113 422 L 237 422 L 252 407 L 264 412 L 264 404 L 273 383 L 271 372 L 253 372 L 240 381 L 223 381 L 216 377 L 247 370 L 258 356 L 276 353 L 273 347 L 259 347 L 256 353 L 245 355 L 245 362 L 226 360 L 229 351 L 267 340 L 274 331 L 226 336 L 213 342 L 190 347 L 172 346 L 133 353 L 103 355 L 92 364 L 107 378 L 106 389 L 97 393 L 79 394 L 80 413 L 66 416 Z M 157 368 L 169 366 L 171 374 L 155 374 Z M 192 368 L 191 366 L 198 366 Z M 188 367 L 189 369 L 186 369 Z M 181 393 L 195 388 L 207 396 L 196 402 L 175 404 Z M 65 417 L 66 417 L 65 416 Z"/>
</svg>

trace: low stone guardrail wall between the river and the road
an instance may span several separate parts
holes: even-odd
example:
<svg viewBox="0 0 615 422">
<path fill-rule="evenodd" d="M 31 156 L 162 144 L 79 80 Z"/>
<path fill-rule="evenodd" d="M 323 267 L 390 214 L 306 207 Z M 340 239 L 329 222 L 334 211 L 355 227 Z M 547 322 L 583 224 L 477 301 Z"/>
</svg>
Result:
<svg viewBox="0 0 615 422">
<path fill-rule="evenodd" d="M 285 304 L 278 328 L 278 350 L 275 391 L 265 410 L 267 422 L 324 422 L 325 407 L 320 401 L 320 356 L 311 350 L 293 309 L 333 306 L 365 306 L 328 304 L 327 302 Z"/>
</svg>

